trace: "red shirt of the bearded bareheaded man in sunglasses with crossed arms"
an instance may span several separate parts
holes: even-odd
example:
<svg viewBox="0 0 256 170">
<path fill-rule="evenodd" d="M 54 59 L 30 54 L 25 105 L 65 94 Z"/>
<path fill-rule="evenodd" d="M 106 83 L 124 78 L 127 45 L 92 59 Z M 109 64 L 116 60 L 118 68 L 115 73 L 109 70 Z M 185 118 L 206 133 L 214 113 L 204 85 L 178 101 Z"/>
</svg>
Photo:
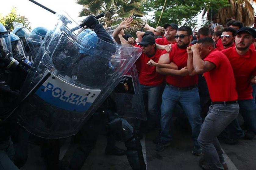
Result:
<svg viewBox="0 0 256 170">
<path fill-rule="evenodd" d="M 166 51 L 164 51 L 166 53 Z M 162 53 L 163 54 L 163 53 Z M 187 49 L 181 49 L 174 44 L 172 51 L 169 53 L 170 62 L 178 66 L 178 70 L 187 66 Z M 190 87 L 198 82 L 198 76 L 166 76 L 166 82 L 175 87 Z"/>
</svg>

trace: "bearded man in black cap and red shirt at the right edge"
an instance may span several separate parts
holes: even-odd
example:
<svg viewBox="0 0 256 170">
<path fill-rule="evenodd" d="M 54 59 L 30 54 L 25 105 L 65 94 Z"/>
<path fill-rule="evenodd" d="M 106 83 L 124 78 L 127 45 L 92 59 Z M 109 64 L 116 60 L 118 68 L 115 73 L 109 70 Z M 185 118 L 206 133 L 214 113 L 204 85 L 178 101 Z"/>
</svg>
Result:
<svg viewBox="0 0 256 170">
<path fill-rule="evenodd" d="M 240 113 L 248 127 L 247 132 L 254 132 L 254 134 L 256 134 L 256 104 L 252 97 L 251 83 L 256 83 L 256 51 L 249 47 L 254 43 L 255 38 L 254 29 L 243 27 L 236 32 L 236 46 L 221 51 L 229 59 L 234 71 Z M 226 129 L 235 132 L 233 139 L 238 141 L 240 127 L 237 120 L 234 120 Z"/>
</svg>

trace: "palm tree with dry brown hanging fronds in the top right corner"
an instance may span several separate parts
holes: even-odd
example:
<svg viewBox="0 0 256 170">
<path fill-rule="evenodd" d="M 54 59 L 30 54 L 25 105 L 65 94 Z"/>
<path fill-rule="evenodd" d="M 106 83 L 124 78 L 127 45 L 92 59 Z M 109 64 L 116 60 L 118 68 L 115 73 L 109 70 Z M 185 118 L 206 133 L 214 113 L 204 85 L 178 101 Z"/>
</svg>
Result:
<svg viewBox="0 0 256 170">
<path fill-rule="evenodd" d="M 219 18 L 219 24 L 226 25 L 227 19 L 234 17 L 244 23 L 244 26 L 251 26 L 254 23 L 254 8 L 252 3 L 256 0 L 228 0 L 229 6 L 213 12 L 213 17 Z M 210 10 L 208 10 L 210 19 Z"/>
</svg>

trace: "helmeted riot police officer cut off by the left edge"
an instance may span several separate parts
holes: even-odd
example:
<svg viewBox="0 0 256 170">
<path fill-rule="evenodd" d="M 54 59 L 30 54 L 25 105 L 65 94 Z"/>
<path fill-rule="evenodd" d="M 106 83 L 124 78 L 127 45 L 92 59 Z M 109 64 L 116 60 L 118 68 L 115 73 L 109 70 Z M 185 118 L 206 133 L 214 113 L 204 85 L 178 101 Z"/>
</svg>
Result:
<svg viewBox="0 0 256 170">
<path fill-rule="evenodd" d="M 18 169 L 12 162 L 14 149 L 10 133 L 15 119 L 9 118 L 8 110 L 13 107 L 13 102 L 19 94 L 19 90 L 12 89 L 8 84 L 11 68 L 15 68 L 18 62 L 12 58 L 10 32 L 0 23 L 0 165 L 5 169 Z"/>
</svg>

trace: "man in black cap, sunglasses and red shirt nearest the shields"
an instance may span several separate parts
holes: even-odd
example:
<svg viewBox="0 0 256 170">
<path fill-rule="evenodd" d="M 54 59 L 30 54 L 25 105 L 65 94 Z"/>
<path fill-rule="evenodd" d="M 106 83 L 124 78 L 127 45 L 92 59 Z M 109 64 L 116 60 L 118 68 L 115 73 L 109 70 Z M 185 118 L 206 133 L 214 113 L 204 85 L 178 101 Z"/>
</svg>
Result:
<svg viewBox="0 0 256 170">
<path fill-rule="evenodd" d="M 149 66 L 148 62 L 150 60 L 158 62 L 162 50 L 156 49 L 155 37 L 151 35 L 143 36 L 139 46 L 142 49 L 142 54 L 136 61 L 136 67 L 140 70 L 140 88 L 148 113 L 147 128 L 152 129 L 160 125 L 160 101 L 164 76 L 156 73 L 156 66 Z M 176 68 L 176 66 L 172 68 Z"/>
</svg>

